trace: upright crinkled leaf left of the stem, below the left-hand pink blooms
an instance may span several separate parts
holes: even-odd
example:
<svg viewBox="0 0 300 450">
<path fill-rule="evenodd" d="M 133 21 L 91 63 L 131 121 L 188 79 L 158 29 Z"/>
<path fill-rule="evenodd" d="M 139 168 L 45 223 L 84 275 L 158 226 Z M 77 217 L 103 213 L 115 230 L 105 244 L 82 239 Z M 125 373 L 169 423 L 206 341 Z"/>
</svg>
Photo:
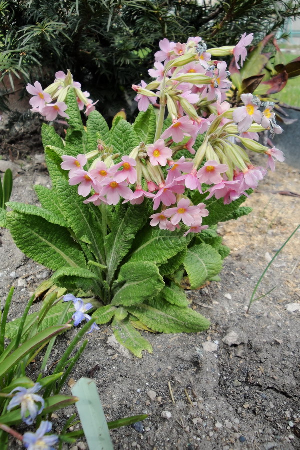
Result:
<svg viewBox="0 0 300 450">
<path fill-rule="evenodd" d="M 83 197 L 78 195 L 77 187 L 70 186 L 65 178 L 57 179 L 56 192 L 68 225 L 79 239 L 91 244 L 90 249 L 98 261 L 104 264 L 102 227 L 98 215 L 93 214 L 93 208 L 96 206 L 83 203 Z"/>
</svg>

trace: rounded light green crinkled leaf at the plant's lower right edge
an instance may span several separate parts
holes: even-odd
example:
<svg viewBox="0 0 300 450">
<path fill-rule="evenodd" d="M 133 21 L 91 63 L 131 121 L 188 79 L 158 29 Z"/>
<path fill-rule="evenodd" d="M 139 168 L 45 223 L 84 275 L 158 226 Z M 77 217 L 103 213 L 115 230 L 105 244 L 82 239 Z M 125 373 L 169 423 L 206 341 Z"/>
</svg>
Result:
<svg viewBox="0 0 300 450">
<path fill-rule="evenodd" d="M 188 248 L 184 260 L 190 286 L 196 289 L 222 269 L 222 258 L 211 245 L 200 244 Z"/>
</svg>

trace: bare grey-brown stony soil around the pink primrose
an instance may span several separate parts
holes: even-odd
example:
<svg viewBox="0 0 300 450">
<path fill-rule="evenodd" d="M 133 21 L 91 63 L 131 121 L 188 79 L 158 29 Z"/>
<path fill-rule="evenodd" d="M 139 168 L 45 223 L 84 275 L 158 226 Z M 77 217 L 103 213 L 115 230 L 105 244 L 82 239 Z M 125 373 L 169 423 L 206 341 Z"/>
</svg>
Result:
<svg viewBox="0 0 300 450">
<path fill-rule="evenodd" d="M 37 204 L 32 185 L 50 186 L 37 133 L 38 129 L 31 136 L 15 137 L 12 143 L 6 139 L 2 148 L 9 164 L 14 157 L 12 200 Z M 255 163 L 264 165 L 265 160 L 256 157 Z M 0 161 L 0 170 L 4 166 Z M 107 420 L 149 416 L 111 431 L 115 449 L 300 448 L 300 311 L 290 312 L 287 306 L 300 303 L 299 231 L 267 271 L 257 296 L 276 288 L 246 313 L 264 268 L 300 223 L 299 181 L 299 169 L 278 163 L 276 172 L 270 172 L 247 199 L 253 212 L 220 224 L 219 233 L 231 248 L 221 281 L 188 292 L 191 307 L 211 320 L 208 331 L 147 334 L 153 354 L 142 359 L 113 342 L 109 326 L 88 336 L 89 345 L 72 378 L 96 381 Z M 15 286 L 9 315 L 13 319 L 22 314 L 31 293 L 50 272 L 24 256 L 6 229 L 0 230 L 0 239 L 0 298 L 3 306 L 10 286 Z M 232 331 L 236 336 L 229 342 L 225 337 Z M 74 332 L 58 339 L 51 363 L 59 359 Z M 40 364 L 37 360 L 29 367 L 32 379 Z M 68 386 L 65 392 L 70 393 Z M 72 411 L 68 408 L 54 416 L 57 430 Z M 170 415 L 166 412 L 170 418 L 164 418 Z M 11 443 L 11 448 L 17 447 Z"/>
</svg>

